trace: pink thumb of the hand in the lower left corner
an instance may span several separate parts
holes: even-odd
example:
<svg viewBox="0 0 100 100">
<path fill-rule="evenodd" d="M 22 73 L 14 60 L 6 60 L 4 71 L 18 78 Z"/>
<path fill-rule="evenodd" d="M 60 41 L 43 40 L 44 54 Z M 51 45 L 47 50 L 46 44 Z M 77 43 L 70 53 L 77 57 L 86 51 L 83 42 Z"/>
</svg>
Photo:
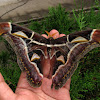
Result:
<svg viewBox="0 0 100 100">
<path fill-rule="evenodd" d="M 0 73 L 0 100 L 14 100 L 14 93 L 5 83 L 2 74 Z"/>
</svg>

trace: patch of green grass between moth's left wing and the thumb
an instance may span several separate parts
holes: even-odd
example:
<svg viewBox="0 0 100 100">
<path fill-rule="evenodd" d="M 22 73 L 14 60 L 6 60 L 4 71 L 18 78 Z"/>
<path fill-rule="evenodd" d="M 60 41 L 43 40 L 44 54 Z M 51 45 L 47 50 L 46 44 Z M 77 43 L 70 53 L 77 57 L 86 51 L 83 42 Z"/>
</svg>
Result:
<svg viewBox="0 0 100 100">
<path fill-rule="evenodd" d="M 5 40 L 4 40 L 5 41 Z M 15 91 L 21 70 L 17 64 L 17 59 L 11 46 L 5 41 L 7 51 L 0 53 L 0 72 L 7 84 Z"/>
</svg>

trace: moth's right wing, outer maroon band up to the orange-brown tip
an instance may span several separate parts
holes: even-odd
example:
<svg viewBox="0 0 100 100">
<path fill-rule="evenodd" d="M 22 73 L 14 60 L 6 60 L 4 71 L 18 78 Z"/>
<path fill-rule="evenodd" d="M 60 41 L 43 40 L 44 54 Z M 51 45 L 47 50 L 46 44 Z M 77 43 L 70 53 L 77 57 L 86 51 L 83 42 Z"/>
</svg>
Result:
<svg viewBox="0 0 100 100">
<path fill-rule="evenodd" d="M 83 58 L 90 50 L 100 47 L 100 30 L 86 30 L 67 35 L 66 48 L 69 48 L 66 53 L 66 62 L 60 65 L 53 76 L 52 87 L 59 89 L 73 75 L 78 67 L 79 60 Z M 59 40 L 59 39 L 58 39 Z"/>
</svg>

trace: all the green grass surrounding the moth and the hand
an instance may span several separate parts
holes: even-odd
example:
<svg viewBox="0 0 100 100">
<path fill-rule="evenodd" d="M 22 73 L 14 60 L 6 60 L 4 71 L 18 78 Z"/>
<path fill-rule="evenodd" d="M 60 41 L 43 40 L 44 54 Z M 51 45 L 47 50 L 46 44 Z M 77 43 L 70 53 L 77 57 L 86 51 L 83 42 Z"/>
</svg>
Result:
<svg viewBox="0 0 100 100">
<path fill-rule="evenodd" d="M 98 0 L 95 0 L 98 6 Z M 43 34 L 45 30 L 57 29 L 60 33 L 70 34 L 85 29 L 100 29 L 100 9 L 95 12 L 91 7 L 90 12 L 83 10 L 73 15 L 65 12 L 60 5 L 49 8 L 48 16 L 42 21 L 32 21 L 30 29 Z M 4 41 L 0 38 L 1 41 Z M 8 51 L 0 54 L 0 72 L 6 82 L 15 91 L 20 69 L 16 63 L 16 56 L 5 41 Z M 79 63 L 79 67 L 71 78 L 70 94 L 72 100 L 100 100 L 100 48 L 89 52 Z"/>
</svg>

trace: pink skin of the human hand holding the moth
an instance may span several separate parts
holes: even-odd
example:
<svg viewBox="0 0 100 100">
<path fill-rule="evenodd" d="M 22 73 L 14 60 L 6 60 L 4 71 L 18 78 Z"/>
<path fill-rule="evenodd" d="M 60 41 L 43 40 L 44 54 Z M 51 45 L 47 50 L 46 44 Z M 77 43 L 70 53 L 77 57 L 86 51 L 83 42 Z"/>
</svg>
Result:
<svg viewBox="0 0 100 100">
<path fill-rule="evenodd" d="M 51 31 L 50 34 L 53 34 L 53 32 L 54 31 Z M 64 34 L 62 34 L 62 36 L 64 36 Z M 58 38 L 61 36 L 55 37 Z M 48 38 L 48 36 L 45 38 Z M 45 66 L 48 66 L 48 63 L 46 63 Z M 52 80 L 44 77 L 42 85 L 39 88 L 34 88 L 27 82 L 26 72 L 22 72 L 14 93 L 5 83 L 0 73 L 0 100 L 71 100 L 69 93 L 70 82 L 71 79 L 69 79 L 62 88 L 55 90 L 54 88 L 51 89 Z"/>
</svg>

